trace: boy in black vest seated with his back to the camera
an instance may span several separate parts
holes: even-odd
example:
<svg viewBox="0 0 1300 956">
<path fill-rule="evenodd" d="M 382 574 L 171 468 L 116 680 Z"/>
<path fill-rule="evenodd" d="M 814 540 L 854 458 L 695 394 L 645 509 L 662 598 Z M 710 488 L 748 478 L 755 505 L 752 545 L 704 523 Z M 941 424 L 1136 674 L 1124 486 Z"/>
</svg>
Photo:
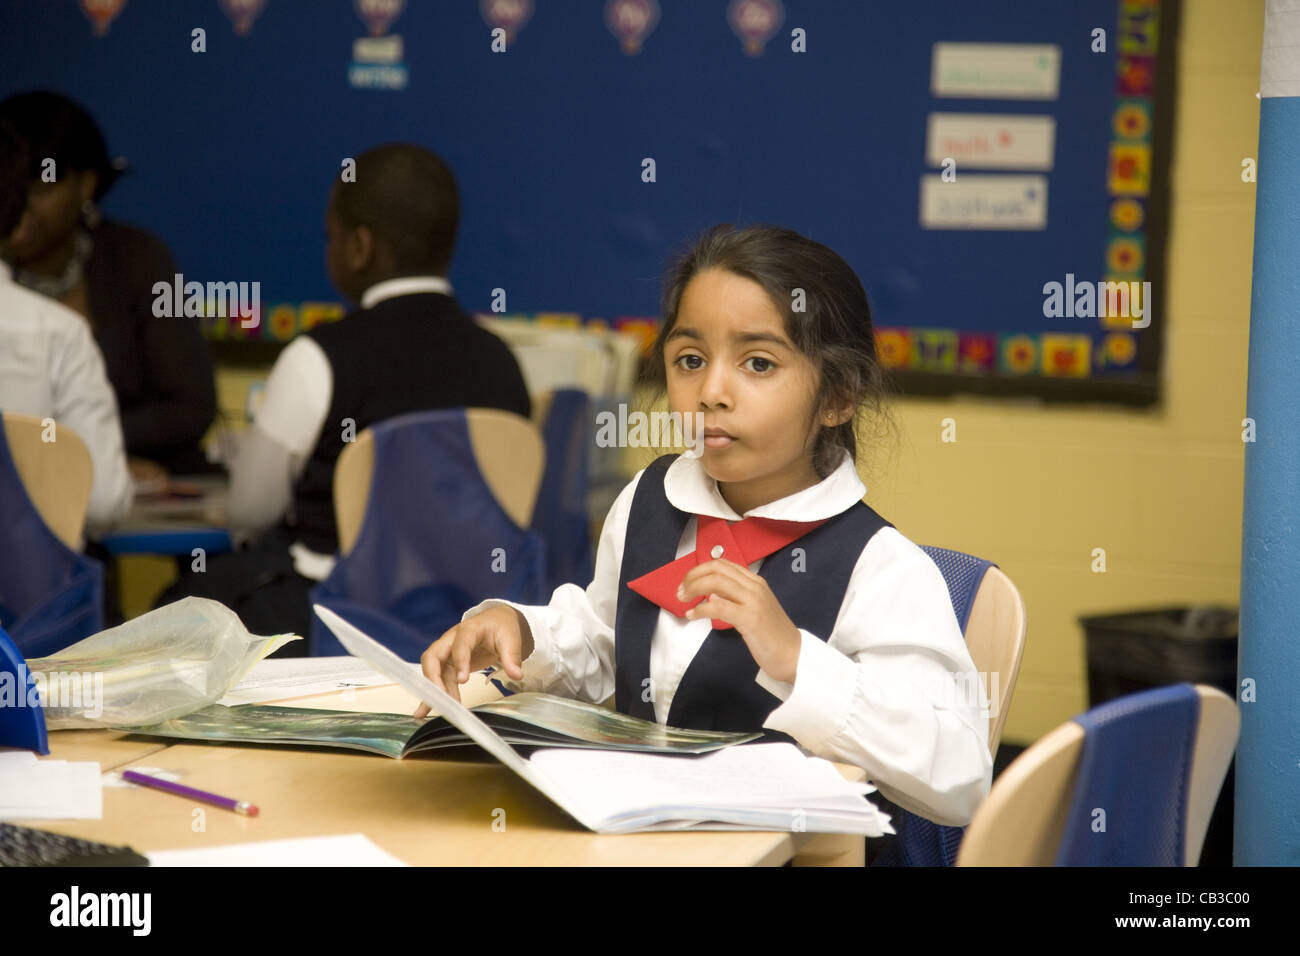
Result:
<svg viewBox="0 0 1300 956">
<path fill-rule="evenodd" d="M 376 421 L 434 408 L 502 408 L 528 418 L 510 349 L 476 324 L 447 282 L 460 198 L 428 150 L 393 143 L 356 159 L 325 216 L 326 268 L 360 306 L 295 338 L 270 369 L 252 427 L 230 466 L 233 531 L 246 551 L 182 571 L 159 605 L 199 594 L 231 607 L 254 633 L 311 628 L 308 592 L 333 568 L 334 464 Z M 295 641 L 281 656 L 304 654 Z"/>
</svg>

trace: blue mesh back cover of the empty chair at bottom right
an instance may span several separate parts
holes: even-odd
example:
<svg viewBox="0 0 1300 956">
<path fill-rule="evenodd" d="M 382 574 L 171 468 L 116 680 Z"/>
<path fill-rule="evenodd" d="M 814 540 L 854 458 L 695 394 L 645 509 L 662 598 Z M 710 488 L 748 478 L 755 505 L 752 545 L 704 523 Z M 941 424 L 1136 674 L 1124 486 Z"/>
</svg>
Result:
<svg viewBox="0 0 1300 956">
<path fill-rule="evenodd" d="M 1191 684 L 1106 701 L 1074 718 L 1083 752 L 1057 866 L 1183 866 L 1200 723 Z"/>
</svg>

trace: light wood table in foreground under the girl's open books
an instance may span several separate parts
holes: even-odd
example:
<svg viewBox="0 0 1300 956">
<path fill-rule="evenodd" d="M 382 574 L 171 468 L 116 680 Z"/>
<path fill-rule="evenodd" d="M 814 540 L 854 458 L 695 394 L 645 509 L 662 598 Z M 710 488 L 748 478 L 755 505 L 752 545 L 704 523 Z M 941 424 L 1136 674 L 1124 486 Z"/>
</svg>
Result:
<svg viewBox="0 0 1300 956">
<path fill-rule="evenodd" d="M 463 688 L 465 704 L 495 695 Z M 412 713 L 396 685 L 300 697 L 294 706 Z M 101 756 L 86 735 L 101 735 Z M 138 754 L 127 748 L 138 747 Z M 70 756 L 75 753 L 75 756 Z M 269 745 L 174 744 L 107 731 L 51 734 L 51 756 L 100 760 L 105 770 L 151 766 L 179 782 L 257 804 L 242 817 L 216 806 L 135 787 L 105 788 L 104 817 L 42 821 L 47 830 L 125 843 L 147 853 L 229 843 L 363 832 L 413 865 L 452 866 L 779 866 L 863 864 L 863 838 L 792 832 L 593 834 L 484 753 L 448 760 L 393 760 L 350 750 Z M 122 762 L 125 760 L 125 762 Z M 117 761 L 117 762 L 114 762 Z M 848 779 L 858 767 L 836 765 Z M 199 813 L 196 813 L 196 810 Z"/>
</svg>

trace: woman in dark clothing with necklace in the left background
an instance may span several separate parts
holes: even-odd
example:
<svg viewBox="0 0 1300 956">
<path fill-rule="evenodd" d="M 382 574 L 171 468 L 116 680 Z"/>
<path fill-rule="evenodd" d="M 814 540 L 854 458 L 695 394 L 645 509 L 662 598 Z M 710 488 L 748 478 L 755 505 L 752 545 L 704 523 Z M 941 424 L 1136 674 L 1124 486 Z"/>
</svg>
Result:
<svg viewBox="0 0 1300 956">
<path fill-rule="evenodd" d="M 212 358 L 196 317 L 153 315 L 153 284 L 170 286 L 178 272 L 166 246 L 99 213 L 122 172 L 99 126 L 49 91 L 0 101 L 0 120 L 30 156 L 26 209 L 5 250 L 16 281 L 90 323 L 138 480 L 208 470 L 199 440 L 217 408 Z"/>
</svg>

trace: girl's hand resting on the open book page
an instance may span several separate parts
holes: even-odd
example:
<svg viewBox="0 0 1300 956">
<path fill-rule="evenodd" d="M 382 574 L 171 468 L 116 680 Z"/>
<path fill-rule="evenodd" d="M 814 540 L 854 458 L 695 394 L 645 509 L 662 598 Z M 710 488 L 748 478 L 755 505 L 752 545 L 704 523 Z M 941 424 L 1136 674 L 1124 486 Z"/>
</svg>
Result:
<svg viewBox="0 0 1300 956">
<path fill-rule="evenodd" d="M 528 620 L 514 607 L 497 605 L 462 620 L 420 656 L 424 675 L 458 701 L 459 684 L 469 672 L 500 665 L 506 676 L 520 680 L 524 671 L 519 662 L 533 653 L 533 632 Z M 425 717 L 429 705 L 421 702 L 415 717 Z"/>
</svg>

